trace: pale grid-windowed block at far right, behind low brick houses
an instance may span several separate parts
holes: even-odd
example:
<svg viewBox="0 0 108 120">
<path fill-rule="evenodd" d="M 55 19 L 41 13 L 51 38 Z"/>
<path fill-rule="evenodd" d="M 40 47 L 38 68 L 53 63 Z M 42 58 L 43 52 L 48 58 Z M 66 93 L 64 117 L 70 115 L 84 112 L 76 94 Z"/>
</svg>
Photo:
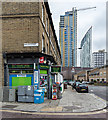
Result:
<svg viewBox="0 0 108 120">
<path fill-rule="evenodd" d="M 99 50 L 92 54 L 92 65 L 94 68 L 102 67 L 106 65 L 106 52 L 105 50 Z"/>
</svg>

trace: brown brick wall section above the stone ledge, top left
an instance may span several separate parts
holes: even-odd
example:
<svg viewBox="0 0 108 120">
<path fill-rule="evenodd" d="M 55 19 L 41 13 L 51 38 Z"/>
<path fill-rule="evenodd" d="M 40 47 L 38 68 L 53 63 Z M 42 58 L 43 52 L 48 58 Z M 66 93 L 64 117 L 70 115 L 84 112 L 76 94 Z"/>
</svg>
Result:
<svg viewBox="0 0 108 120">
<path fill-rule="evenodd" d="M 39 2 L 2 2 L 2 14 L 39 13 Z"/>
</svg>

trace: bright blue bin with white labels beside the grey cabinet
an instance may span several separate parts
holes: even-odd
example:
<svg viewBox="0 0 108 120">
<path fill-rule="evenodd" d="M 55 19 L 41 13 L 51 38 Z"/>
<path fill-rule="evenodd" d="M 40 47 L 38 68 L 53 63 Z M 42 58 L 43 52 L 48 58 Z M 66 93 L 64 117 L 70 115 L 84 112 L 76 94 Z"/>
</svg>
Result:
<svg viewBox="0 0 108 120">
<path fill-rule="evenodd" d="M 41 104 L 44 102 L 44 91 L 34 90 L 34 103 Z"/>
</svg>

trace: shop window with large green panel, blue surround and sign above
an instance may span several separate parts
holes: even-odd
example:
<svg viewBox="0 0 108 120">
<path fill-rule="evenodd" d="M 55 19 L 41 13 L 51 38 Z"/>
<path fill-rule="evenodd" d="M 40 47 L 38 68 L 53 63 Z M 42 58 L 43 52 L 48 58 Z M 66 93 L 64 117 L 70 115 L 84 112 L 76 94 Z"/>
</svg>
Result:
<svg viewBox="0 0 108 120">
<path fill-rule="evenodd" d="M 33 64 L 8 64 L 9 86 L 33 85 Z"/>
</svg>

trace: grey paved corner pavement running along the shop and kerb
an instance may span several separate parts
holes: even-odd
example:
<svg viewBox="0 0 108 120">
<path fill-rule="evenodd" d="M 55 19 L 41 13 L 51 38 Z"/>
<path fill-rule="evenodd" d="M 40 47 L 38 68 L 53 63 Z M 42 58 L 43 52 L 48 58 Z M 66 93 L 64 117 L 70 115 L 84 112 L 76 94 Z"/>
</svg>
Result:
<svg viewBox="0 0 108 120">
<path fill-rule="evenodd" d="M 77 93 L 71 86 L 57 100 L 45 99 L 42 104 L 2 102 L 3 111 L 22 111 L 37 113 L 87 113 L 103 110 L 105 100 L 92 93 Z M 1 111 L 0 110 L 0 111 Z"/>
</svg>

